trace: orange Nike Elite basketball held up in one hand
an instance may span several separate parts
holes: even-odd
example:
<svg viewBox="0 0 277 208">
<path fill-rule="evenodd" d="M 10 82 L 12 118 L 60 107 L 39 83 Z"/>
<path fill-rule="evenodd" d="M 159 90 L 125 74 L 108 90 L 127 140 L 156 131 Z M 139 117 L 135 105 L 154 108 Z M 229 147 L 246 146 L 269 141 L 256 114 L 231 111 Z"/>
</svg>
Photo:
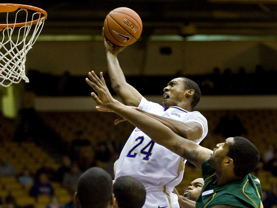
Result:
<svg viewBox="0 0 277 208">
<path fill-rule="evenodd" d="M 139 15 L 127 7 L 113 9 L 104 21 L 107 39 L 115 45 L 127 46 L 138 40 L 142 31 Z"/>
</svg>

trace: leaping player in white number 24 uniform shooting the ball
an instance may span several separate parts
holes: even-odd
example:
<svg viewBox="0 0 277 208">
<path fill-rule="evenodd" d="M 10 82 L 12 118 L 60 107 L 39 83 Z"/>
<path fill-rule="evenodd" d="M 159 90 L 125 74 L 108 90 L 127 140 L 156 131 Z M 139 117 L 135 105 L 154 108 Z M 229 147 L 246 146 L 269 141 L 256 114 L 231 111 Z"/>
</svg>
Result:
<svg viewBox="0 0 277 208">
<path fill-rule="evenodd" d="M 191 112 L 200 100 L 198 85 L 179 77 L 164 88 L 164 107 L 147 101 L 126 82 L 119 66 L 117 53 L 125 47 L 113 46 L 106 41 L 104 33 L 103 37 L 111 84 L 123 103 L 139 107 L 141 112 L 159 120 L 176 134 L 199 143 L 206 136 L 208 126 L 203 115 Z M 135 128 L 115 164 L 115 180 L 122 175 L 131 175 L 140 180 L 147 189 L 143 208 L 178 208 L 178 197 L 172 190 L 183 178 L 184 163 L 183 158 L 156 144 Z"/>
</svg>

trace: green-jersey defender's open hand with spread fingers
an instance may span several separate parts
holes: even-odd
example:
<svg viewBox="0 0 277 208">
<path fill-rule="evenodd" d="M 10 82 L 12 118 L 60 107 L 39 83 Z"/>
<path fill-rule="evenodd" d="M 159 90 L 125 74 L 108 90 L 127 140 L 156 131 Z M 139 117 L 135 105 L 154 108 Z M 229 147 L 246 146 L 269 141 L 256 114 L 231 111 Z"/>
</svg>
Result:
<svg viewBox="0 0 277 208">
<path fill-rule="evenodd" d="M 103 77 L 103 73 L 100 72 L 100 79 L 94 73 L 94 71 L 89 72 L 88 78 L 86 78 L 86 82 L 97 92 L 98 96 L 95 93 L 91 93 L 92 98 L 96 102 L 96 104 L 102 109 L 107 109 L 112 112 L 113 105 L 116 104 L 115 99 L 111 96 L 110 91 L 107 88 L 106 82 Z"/>
</svg>

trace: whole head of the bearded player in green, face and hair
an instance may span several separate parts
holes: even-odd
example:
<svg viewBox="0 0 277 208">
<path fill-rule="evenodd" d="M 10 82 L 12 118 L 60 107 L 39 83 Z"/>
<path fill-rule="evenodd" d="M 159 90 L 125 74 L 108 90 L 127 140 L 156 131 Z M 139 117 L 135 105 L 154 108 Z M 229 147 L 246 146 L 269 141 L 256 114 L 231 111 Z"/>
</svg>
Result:
<svg viewBox="0 0 277 208">
<path fill-rule="evenodd" d="M 209 163 L 216 172 L 228 172 L 231 167 L 236 177 L 245 177 L 256 169 L 259 160 L 258 149 L 248 139 L 235 136 L 217 144 Z"/>
</svg>

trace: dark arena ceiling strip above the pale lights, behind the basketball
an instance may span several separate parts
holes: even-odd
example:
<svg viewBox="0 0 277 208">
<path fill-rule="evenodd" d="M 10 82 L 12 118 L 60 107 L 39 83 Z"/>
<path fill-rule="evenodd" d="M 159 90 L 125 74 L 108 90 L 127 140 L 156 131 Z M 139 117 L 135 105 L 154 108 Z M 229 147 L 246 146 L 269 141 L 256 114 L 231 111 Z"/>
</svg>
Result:
<svg viewBox="0 0 277 208">
<path fill-rule="evenodd" d="M 7 2 L 8 3 L 8 2 Z M 101 34 L 117 7 L 135 10 L 142 36 L 179 34 L 277 35 L 277 0 L 24 1 L 46 10 L 42 34 Z"/>
</svg>

